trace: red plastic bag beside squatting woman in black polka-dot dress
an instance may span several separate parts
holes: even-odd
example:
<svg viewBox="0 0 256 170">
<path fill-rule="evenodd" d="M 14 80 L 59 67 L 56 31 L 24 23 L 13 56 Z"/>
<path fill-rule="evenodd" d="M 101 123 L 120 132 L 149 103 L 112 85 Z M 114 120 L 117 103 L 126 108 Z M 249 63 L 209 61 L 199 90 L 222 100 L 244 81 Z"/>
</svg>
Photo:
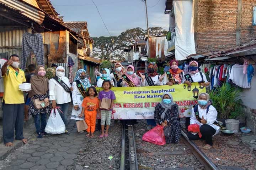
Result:
<svg viewBox="0 0 256 170">
<path fill-rule="evenodd" d="M 142 136 L 142 140 L 156 145 L 165 145 L 164 127 L 156 125 Z"/>
</svg>

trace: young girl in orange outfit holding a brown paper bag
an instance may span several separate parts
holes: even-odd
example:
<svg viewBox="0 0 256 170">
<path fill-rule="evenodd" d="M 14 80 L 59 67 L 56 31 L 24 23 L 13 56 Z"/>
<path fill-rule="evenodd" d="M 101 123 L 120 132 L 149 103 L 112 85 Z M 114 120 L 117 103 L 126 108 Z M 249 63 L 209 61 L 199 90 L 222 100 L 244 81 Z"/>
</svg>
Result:
<svg viewBox="0 0 256 170">
<path fill-rule="evenodd" d="M 86 96 L 87 97 L 85 97 L 82 102 L 82 112 L 79 117 L 82 117 L 84 115 L 85 122 L 88 126 L 88 129 L 86 129 L 87 134 L 85 136 L 93 138 L 97 112 L 100 113 L 99 100 L 96 97 L 97 91 L 94 86 L 91 86 L 87 89 Z"/>
</svg>

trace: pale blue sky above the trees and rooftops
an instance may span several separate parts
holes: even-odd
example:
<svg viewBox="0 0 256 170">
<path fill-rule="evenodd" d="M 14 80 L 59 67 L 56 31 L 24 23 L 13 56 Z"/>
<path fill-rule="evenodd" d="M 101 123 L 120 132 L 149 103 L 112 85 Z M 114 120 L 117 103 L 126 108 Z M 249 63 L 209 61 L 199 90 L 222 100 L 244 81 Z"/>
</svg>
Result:
<svg viewBox="0 0 256 170">
<path fill-rule="evenodd" d="M 142 0 L 94 0 L 110 34 L 126 29 L 146 29 L 145 2 Z M 91 0 L 51 0 L 65 21 L 86 21 L 91 37 L 110 36 Z M 169 29 L 169 15 L 164 14 L 165 0 L 147 0 L 149 27 Z"/>
</svg>

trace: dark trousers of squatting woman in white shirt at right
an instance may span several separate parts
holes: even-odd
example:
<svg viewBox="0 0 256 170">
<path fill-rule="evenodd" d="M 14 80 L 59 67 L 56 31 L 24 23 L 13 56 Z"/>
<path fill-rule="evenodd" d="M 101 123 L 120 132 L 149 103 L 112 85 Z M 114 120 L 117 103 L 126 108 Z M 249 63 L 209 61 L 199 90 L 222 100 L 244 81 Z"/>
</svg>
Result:
<svg viewBox="0 0 256 170">
<path fill-rule="evenodd" d="M 199 137 L 198 133 L 196 135 L 193 135 L 190 132 L 188 132 L 187 136 L 190 140 L 205 139 L 206 143 L 212 146 L 213 145 L 212 137 L 215 134 L 216 130 L 210 125 L 201 125 L 200 132 L 202 134 L 202 138 Z"/>
</svg>

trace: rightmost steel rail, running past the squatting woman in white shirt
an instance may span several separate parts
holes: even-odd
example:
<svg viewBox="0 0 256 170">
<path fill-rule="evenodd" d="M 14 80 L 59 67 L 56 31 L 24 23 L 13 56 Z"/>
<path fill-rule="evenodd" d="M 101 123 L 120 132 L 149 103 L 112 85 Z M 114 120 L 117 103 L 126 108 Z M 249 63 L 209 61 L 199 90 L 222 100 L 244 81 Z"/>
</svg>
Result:
<svg viewBox="0 0 256 170">
<path fill-rule="evenodd" d="M 196 144 L 190 141 L 187 135 L 181 131 L 183 141 L 188 148 L 191 149 L 191 152 L 195 155 L 198 161 L 204 166 L 206 170 L 218 170 L 214 163 L 196 146 Z"/>
</svg>

